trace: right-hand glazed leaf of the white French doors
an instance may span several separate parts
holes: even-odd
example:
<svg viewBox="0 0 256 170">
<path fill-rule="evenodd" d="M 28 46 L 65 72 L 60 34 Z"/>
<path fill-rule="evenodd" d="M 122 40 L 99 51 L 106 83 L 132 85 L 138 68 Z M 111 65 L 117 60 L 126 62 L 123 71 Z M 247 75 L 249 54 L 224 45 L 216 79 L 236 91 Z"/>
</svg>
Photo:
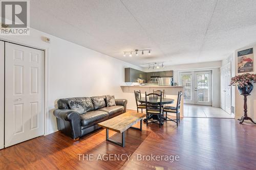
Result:
<svg viewBox="0 0 256 170">
<path fill-rule="evenodd" d="M 195 72 L 195 104 L 211 106 L 211 71 Z"/>
</svg>

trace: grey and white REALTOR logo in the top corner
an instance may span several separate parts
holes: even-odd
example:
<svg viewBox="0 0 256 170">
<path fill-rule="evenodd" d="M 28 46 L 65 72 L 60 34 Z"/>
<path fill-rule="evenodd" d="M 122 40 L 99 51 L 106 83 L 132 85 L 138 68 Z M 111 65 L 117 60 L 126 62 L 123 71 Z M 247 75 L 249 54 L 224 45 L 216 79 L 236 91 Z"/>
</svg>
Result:
<svg viewBox="0 0 256 170">
<path fill-rule="evenodd" d="M 1 1 L 1 35 L 29 35 L 29 1 Z"/>
</svg>

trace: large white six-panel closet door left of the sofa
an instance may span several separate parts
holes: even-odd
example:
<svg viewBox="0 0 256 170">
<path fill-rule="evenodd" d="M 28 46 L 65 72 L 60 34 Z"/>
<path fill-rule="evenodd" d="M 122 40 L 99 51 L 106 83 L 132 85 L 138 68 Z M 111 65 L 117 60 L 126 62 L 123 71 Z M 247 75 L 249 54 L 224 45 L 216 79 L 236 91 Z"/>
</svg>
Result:
<svg viewBox="0 0 256 170">
<path fill-rule="evenodd" d="M 44 51 L 5 45 L 5 147 L 44 134 Z"/>
</svg>

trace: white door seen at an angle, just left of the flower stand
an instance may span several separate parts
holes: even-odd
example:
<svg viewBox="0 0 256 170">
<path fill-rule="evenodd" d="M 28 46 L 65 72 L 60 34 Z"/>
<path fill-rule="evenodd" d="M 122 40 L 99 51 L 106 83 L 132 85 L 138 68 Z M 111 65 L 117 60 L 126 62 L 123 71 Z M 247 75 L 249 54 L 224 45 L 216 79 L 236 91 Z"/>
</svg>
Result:
<svg viewBox="0 0 256 170">
<path fill-rule="evenodd" d="M 221 108 L 231 114 L 231 64 L 221 67 Z"/>
</svg>

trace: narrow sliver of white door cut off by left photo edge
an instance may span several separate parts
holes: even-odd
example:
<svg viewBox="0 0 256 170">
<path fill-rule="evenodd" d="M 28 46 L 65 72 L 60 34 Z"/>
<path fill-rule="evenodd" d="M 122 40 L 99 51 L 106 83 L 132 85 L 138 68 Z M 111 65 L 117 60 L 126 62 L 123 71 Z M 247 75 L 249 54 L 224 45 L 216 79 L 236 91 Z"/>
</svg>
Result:
<svg viewBox="0 0 256 170">
<path fill-rule="evenodd" d="M 5 100 L 5 96 L 4 96 L 4 90 L 5 90 L 5 42 L 4 41 L 0 41 L 0 149 L 4 148 L 4 100 Z"/>
</svg>

